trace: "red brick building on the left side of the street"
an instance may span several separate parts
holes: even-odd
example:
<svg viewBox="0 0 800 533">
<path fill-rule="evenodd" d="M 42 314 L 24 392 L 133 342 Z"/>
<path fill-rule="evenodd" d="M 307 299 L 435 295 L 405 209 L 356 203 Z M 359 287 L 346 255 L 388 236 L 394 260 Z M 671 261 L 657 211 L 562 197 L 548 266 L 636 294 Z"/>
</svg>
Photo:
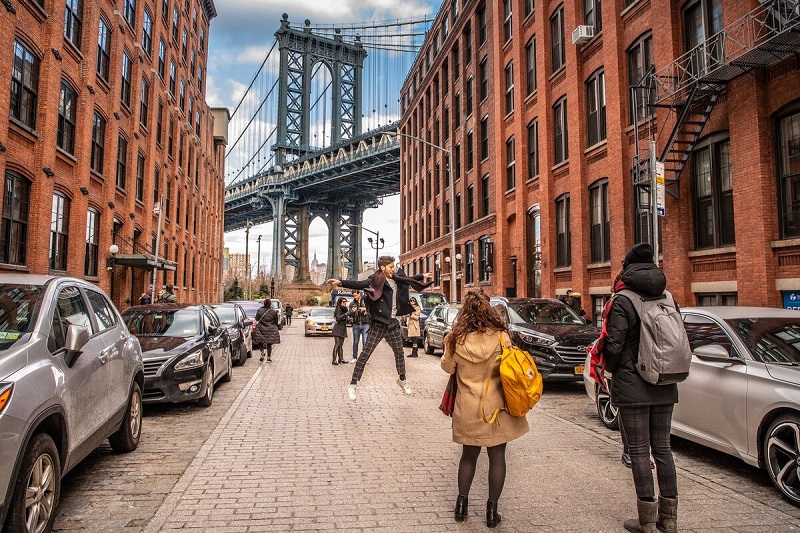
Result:
<svg viewBox="0 0 800 533">
<path fill-rule="evenodd" d="M 86 278 L 124 308 L 157 265 L 156 291 L 221 300 L 228 114 L 205 102 L 213 0 L 0 10 L 0 271 Z"/>
</svg>

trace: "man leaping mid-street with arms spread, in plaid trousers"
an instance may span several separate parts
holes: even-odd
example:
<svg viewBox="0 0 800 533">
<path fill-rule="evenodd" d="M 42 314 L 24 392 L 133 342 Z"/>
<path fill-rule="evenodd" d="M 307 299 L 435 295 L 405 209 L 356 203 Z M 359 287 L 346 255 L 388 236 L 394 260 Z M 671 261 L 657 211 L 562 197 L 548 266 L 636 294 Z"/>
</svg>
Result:
<svg viewBox="0 0 800 533">
<path fill-rule="evenodd" d="M 341 285 L 346 289 L 364 290 L 367 293 L 370 327 L 364 348 L 353 369 L 350 386 L 347 387 L 347 395 L 350 400 L 356 400 L 356 387 L 364 373 L 364 367 L 381 339 L 386 339 L 394 353 L 398 374 L 397 385 L 407 396 L 411 395 L 411 386 L 406 380 L 403 337 L 400 334 L 400 323 L 397 321 L 397 317 L 408 315 L 414 310 L 408 303 L 409 286 L 422 291 L 431 284 L 431 282 L 425 281 L 430 279 L 433 279 L 433 275 L 430 273 L 409 277 L 401 269 L 395 272 L 394 257 L 384 255 L 378 258 L 378 270 L 365 280 L 331 278 L 326 281 L 326 283 Z"/>
</svg>

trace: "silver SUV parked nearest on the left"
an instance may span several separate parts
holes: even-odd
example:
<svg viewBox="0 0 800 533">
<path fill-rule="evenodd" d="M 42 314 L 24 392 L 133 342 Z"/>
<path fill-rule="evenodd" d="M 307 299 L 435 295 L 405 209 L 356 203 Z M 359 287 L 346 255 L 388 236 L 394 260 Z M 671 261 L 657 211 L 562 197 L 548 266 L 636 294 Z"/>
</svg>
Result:
<svg viewBox="0 0 800 533">
<path fill-rule="evenodd" d="M 0 529 L 50 531 L 62 477 L 139 445 L 139 341 L 84 280 L 0 274 Z"/>
</svg>

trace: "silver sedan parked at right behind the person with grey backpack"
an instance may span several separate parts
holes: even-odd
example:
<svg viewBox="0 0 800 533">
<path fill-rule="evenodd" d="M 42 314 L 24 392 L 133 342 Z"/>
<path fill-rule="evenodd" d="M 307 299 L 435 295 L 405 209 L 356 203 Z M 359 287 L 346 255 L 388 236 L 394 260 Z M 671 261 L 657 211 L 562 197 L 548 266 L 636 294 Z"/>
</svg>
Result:
<svg viewBox="0 0 800 533">
<path fill-rule="evenodd" d="M 692 364 L 678 384 L 672 434 L 766 469 L 800 506 L 800 312 L 687 307 L 681 315 Z M 588 367 L 583 377 L 589 397 L 607 405 Z M 616 409 L 598 412 L 616 427 Z"/>
</svg>

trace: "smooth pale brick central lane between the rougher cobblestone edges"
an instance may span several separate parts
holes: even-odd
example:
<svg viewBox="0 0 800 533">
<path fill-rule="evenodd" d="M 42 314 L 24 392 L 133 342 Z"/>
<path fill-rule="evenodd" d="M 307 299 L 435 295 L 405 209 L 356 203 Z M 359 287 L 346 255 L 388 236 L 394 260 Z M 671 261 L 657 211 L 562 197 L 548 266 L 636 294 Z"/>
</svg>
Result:
<svg viewBox="0 0 800 533">
<path fill-rule="evenodd" d="M 330 364 L 332 340 L 303 338 L 300 320 L 282 333 L 275 362 L 252 376 L 144 531 L 486 530 L 485 453 L 469 519 L 452 519 L 460 446 L 437 409 L 447 382 L 438 357 L 407 360 L 406 397 L 381 344 L 350 402 L 353 365 Z M 585 395 L 574 401 L 591 411 Z M 622 531 L 635 496 L 617 434 L 553 405 L 545 391 L 531 433 L 509 444 L 498 531 Z M 682 532 L 800 531 L 777 492 L 765 504 L 680 460 L 678 470 Z"/>
</svg>

